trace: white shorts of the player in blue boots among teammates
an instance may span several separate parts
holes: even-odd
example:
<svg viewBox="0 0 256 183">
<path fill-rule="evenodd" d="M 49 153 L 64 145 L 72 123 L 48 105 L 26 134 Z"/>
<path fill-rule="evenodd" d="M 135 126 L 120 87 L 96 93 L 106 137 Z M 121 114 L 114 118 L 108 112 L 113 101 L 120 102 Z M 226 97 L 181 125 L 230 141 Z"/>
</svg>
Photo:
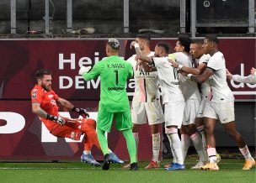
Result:
<svg viewBox="0 0 256 183">
<path fill-rule="evenodd" d="M 177 126 L 181 127 L 184 115 L 184 101 L 169 102 L 164 104 L 165 127 Z"/>
</svg>

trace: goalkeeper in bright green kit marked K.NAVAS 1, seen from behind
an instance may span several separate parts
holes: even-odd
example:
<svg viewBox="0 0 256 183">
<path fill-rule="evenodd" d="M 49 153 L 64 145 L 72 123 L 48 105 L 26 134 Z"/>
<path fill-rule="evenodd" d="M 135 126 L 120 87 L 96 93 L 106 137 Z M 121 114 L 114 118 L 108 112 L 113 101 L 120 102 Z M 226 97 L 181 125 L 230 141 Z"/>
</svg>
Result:
<svg viewBox="0 0 256 183">
<path fill-rule="evenodd" d="M 100 147 L 104 153 L 103 170 L 109 170 L 109 151 L 105 132 L 110 132 L 113 119 L 116 120 L 116 128 L 120 130 L 126 139 L 127 148 L 131 157 L 130 170 L 138 170 L 136 163 L 136 143 L 132 135 L 130 103 L 127 97 L 126 80 L 133 76 L 132 66 L 119 57 L 120 42 L 117 39 L 109 39 L 106 44 L 107 58 L 89 67 L 81 67 L 79 75 L 85 81 L 100 76 L 100 101 L 97 123 L 97 135 Z"/>
</svg>

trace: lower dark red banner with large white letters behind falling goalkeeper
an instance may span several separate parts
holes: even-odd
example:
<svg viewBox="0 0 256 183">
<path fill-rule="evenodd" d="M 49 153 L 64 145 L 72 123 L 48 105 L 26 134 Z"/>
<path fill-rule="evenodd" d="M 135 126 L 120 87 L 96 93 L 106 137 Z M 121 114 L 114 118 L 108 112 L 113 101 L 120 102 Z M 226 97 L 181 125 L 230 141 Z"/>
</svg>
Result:
<svg viewBox="0 0 256 183">
<path fill-rule="evenodd" d="M 98 101 L 72 102 L 86 107 L 90 118 L 97 120 Z M 31 112 L 30 101 L 0 102 L 0 159 L 11 160 L 80 160 L 83 153 L 83 137 L 80 141 L 53 136 L 40 119 Z M 60 110 L 61 111 L 61 110 Z M 62 110 L 63 111 L 63 110 Z M 60 112 L 61 116 L 77 118 L 76 113 Z M 142 130 L 143 128 L 143 130 Z M 161 131 L 162 127 L 159 127 Z M 147 124 L 141 126 L 138 159 L 151 160 L 152 134 Z M 108 133 L 109 149 L 120 159 L 130 160 L 122 133 L 112 125 Z M 93 146 L 95 159 L 103 160 L 103 154 Z"/>
</svg>

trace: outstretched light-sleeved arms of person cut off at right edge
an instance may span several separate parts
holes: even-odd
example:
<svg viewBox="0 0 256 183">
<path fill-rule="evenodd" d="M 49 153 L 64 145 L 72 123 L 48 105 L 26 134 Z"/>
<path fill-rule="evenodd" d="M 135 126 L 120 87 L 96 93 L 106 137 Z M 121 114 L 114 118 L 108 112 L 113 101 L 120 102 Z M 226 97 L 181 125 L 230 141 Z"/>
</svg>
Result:
<svg viewBox="0 0 256 183">
<path fill-rule="evenodd" d="M 256 69 L 252 67 L 251 74 L 249 76 L 239 76 L 239 75 L 232 75 L 227 70 L 227 79 L 237 82 L 244 82 L 250 84 L 256 84 Z"/>
</svg>

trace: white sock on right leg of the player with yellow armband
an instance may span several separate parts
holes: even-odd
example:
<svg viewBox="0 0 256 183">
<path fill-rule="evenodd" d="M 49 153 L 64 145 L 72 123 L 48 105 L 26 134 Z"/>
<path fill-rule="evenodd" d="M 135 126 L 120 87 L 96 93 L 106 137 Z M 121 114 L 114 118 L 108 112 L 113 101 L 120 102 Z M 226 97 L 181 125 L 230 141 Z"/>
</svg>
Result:
<svg viewBox="0 0 256 183">
<path fill-rule="evenodd" d="M 192 140 L 192 142 L 195 146 L 195 150 L 196 150 L 197 154 L 199 154 L 200 161 L 206 162 L 207 156 L 205 155 L 205 150 L 203 148 L 203 143 L 202 143 L 200 134 L 196 132 L 196 133 L 190 135 L 190 139 Z"/>
</svg>

